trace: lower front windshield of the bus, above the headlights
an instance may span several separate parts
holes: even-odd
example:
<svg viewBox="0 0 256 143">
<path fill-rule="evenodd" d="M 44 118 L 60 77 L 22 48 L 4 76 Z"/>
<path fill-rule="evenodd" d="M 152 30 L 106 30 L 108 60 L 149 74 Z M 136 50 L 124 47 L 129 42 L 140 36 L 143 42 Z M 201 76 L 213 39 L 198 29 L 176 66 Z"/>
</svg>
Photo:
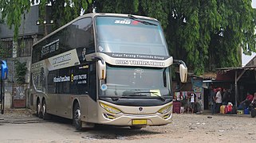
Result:
<svg viewBox="0 0 256 143">
<path fill-rule="evenodd" d="M 169 68 L 136 68 L 108 65 L 101 83 L 103 97 L 170 97 Z M 158 96 L 158 97 L 157 97 Z"/>
</svg>

